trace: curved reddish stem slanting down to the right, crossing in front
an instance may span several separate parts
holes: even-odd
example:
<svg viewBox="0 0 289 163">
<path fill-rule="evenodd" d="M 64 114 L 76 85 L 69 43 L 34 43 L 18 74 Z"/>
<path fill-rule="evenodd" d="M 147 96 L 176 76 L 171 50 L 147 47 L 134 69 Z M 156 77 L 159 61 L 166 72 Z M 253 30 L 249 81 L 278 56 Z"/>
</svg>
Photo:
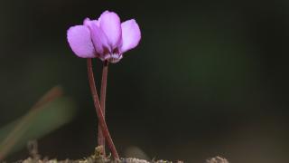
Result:
<svg viewBox="0 0 289 163">
<path fill-rule="evenodd" d="M 118 159 L 119 157 L 118 157 L 118 154 L 117 154 L 117 149 L 116 149 L 116 147 L 114 145 L 113 140 L 110 137 L 109 131 L 107 129 L 107 123 L 106 123 L 106 120 L 105 120 L 105 118 L 103 116 L 103 112 L 101 110 L 100 103 L 99 103 L 99 100 L 98 100 L 98 91 L 97 91 L 97 89 L 95 87 L 95 80 L 94 80 L 94 75 L 93 75 L 93 71 L 92 71 L 92 63 L 91 63 L 91 59 L 90 58 L 87 60 L 87 63 L 88 63 L 88 73 L 89 73 L 89 86 L 90 86 L 90 91 L 91 91 L 91 94 L 92 94 L 92 99 L 93 99 L 93 102 L 94 102 L 94 106 L 96 108 L 97 115 L 98 115 L 98 124 L 100 125 L 102 133 L 104 134 L 104 136 L 105 136 L 105 138 L 107 140 L 107 145 L 108 145 L 108 148 L 111 150 L 112 156 L 115 159 Z"/>
</svg>

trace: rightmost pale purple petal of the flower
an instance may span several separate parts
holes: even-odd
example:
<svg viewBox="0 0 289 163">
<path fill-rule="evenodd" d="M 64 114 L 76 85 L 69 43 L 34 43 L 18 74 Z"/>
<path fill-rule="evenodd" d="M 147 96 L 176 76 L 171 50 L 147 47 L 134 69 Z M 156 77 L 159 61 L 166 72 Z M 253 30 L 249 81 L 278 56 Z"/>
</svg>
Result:
<svg viewBox="0 0 289 163">
<path fill-rule="evenodd" d="M 128 50 L 135 48 L 141 40 L 141 30 L 135 19 L 128 20 L 121 24 L 122 29 L 122 45 L 120 52 L 125 53 Z"/>
</svg>

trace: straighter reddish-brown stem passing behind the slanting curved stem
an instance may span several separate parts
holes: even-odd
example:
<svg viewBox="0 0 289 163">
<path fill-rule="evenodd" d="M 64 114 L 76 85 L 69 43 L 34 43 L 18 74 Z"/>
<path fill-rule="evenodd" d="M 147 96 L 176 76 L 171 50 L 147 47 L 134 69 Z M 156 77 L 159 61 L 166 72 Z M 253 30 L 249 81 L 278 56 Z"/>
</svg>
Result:
<svg viewBox="0 0 289 163">
<path fill-rule="evenodd" d="M 100 107 L 103 113 L 103 117 L 106 119 L 106 95 L 107 95 L 107 72 L 108 62 L 103 62 L 101 88 L 100 88 Z M 98 146 L 103 147 L 103 154 L 106 156 L 106 139 L 101 131 L 100 125 L 98 125 Z"/>
</svg>

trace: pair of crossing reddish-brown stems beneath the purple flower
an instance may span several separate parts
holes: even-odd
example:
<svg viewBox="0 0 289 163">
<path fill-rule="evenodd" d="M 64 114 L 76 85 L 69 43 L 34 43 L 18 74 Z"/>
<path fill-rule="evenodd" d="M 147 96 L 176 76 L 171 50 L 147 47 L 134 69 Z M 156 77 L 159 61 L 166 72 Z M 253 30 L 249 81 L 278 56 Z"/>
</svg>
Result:
<svg viewBox="0 0 289 163">
<path fill-rule="evenodd" d="M 103 73 L 102 73 L 102 81 L 101 81 L 101 99 L 99 102 L 98 99 L 98 91 L 95 86 L 95 80 L 92 70 L 92 62 L 91 58 L 87 59 L 88 64 L 88 73 L 89 73 L 89 86 L 92 94 L 92 99 L 94 106 L 98 115 L 98 145 L 103 146 L 103 153 L 105 154 L 105 140 L 107 140 L 107 146 L 111 151 L 113 158 L 118 159 L 117 149 L 114 145 L 113 140 L 110 137 L 110 133 L 107 129 L 107 123 L 105 120 L 105 101 L 106 101 L 106 90 L 107 90 L 107 70 L 108 70 L 108 62 L 104 62 Z M 101 131 L 99 131 L 101 130 Z"/>
</svg>

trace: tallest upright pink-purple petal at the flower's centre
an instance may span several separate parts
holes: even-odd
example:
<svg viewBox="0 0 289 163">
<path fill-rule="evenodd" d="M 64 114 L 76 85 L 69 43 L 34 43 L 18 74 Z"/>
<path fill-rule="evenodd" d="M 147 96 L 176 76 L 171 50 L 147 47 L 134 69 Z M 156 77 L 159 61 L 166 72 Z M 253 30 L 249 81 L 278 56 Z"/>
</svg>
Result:
<svg viewBox="0 0 289 163">
<path fill-rule="evenodd" d="M 116 13 L 106 11 L 100 15 L 98 21 L 100 28 L 107 35 L 108 43 L 113 51 L 121 41 L 120 19 Z"/>
</svg>

